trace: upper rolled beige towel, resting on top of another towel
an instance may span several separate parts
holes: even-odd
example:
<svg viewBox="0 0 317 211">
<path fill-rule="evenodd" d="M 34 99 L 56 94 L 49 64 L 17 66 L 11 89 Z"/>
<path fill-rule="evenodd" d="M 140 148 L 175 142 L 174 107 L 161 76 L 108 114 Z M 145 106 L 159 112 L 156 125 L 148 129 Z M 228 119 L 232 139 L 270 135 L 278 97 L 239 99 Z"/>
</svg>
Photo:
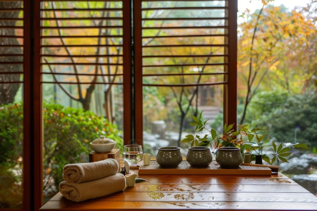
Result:
<svg viewBox="0 0 317 211">
<path fill-rule="evenodd" d="M 118 171 L 118 162 L 109 158 L 96 162 L 66 164 L 63 168 L 63 178 L 66 182 L 84 183 L 117 174 Z"/>
</svg>

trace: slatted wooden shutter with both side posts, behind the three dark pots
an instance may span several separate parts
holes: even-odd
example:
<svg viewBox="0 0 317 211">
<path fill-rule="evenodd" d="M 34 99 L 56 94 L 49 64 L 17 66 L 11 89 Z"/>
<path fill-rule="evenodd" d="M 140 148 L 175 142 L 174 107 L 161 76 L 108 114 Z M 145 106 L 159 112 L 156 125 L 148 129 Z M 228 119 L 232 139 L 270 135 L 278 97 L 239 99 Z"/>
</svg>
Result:
<svg viewBox="0 0 317 211">
<path fill-rule="evenodd" d="M 235 122 L 237 2 L 134 3 L 137 138 L 143 133 L 145 87 L 218 87 L 224 122 Z"/>
</svg>

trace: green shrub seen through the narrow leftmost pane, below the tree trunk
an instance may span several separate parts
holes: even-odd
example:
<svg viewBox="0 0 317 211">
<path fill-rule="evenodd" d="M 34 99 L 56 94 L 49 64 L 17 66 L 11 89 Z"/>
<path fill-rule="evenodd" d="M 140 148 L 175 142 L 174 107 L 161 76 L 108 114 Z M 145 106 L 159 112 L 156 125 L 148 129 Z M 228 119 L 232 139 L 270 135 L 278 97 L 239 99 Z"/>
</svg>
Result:
<svg viewBox="0 0 317 211">
<path fill-rule="evenodd" d="M 23 106 L 0 106 L 0 209 L 23 207 Z"/>
</svg>

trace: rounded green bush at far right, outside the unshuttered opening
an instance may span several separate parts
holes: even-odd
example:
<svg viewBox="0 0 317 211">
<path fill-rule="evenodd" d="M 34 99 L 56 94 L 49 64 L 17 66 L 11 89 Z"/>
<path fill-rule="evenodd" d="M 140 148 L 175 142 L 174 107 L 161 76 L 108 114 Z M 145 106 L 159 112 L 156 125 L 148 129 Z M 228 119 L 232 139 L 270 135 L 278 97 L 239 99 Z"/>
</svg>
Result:
<svg viewBox="0 0 317 211">
<path fill-rule="evenodd" d="M 251 126 L 267 129 L 269 140 L 316 148 L 316 107 L 317 97 L 312 92 L 291 95 L 282 90 L 262 91 L 249 104 L 246 120 Z"/>
</svg>

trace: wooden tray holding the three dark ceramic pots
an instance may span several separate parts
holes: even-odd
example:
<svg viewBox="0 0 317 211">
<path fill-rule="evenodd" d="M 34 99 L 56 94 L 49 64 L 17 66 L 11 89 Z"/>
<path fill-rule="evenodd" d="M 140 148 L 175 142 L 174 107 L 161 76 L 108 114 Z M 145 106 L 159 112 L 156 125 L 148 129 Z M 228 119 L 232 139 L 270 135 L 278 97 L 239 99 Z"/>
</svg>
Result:
<svg viewBox="0 0 317 211">
<path fill-rule="evenodd" d="M 139 175 L 269 175 L 271 169 L 262 166 L 240 165 L 237 168 L 222 168 L 216 161 L 207 167 L 192 167 L 183 160 L 177 167 L 161 167 L 156 160 L 151 160 L 149 165 L 141 163 Z"/>
</svg>

